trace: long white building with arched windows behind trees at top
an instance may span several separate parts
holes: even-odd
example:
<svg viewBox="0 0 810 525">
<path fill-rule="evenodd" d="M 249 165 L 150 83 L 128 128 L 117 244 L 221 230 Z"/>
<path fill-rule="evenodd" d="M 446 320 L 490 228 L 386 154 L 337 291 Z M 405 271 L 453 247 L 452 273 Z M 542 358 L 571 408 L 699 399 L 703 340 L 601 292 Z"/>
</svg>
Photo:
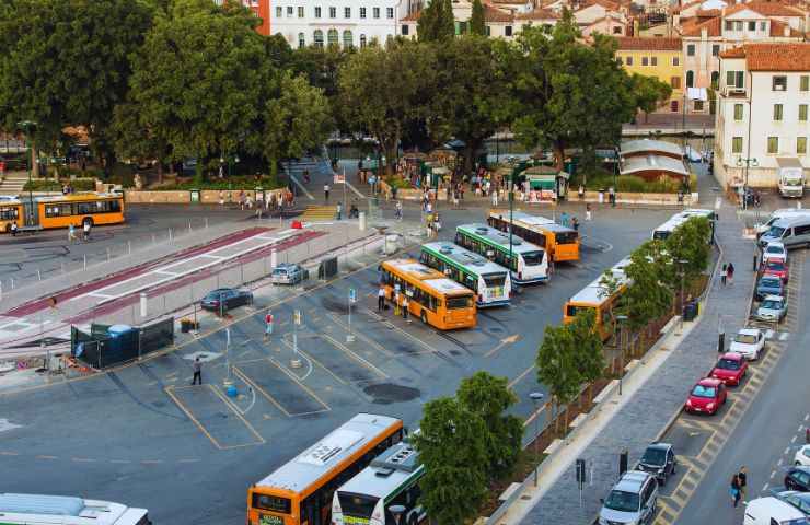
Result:
<svg viewBox="0 0 810 525">
<path fill-rule="evenodd" d="M 364 47 L 401 34 L 403 19 L 418 0 L 279 0 L 270 8 L 270 32 L 296 47 Z"/>
</svg>

